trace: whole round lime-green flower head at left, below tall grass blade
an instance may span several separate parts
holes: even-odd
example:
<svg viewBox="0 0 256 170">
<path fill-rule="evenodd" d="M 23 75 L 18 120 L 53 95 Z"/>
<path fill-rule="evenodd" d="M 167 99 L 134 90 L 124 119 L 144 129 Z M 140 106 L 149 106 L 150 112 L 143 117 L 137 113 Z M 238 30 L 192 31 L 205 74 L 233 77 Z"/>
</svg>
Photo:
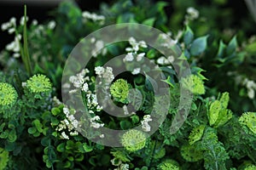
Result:
<svg viewBox="0 0 256 170">
<path fill-rule="evenodd" d="M 51 82 L 44 75 L 34 75 L 26 81 L 26 88 L 32 94 L 49 93 L 51 91 Z"/>
</svg>

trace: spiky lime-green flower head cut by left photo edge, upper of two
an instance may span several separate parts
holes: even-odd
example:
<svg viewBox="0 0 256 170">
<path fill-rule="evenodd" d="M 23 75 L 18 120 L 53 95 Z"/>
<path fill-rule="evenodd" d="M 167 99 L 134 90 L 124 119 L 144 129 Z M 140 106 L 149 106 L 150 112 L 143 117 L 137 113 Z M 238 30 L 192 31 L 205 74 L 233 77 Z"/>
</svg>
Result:
<svg viewBox="0 0 256 170">
<path fill-rule="evenodd" d="M 0 107 L 11 108 L 15 105 L 18 94 L 15 88 L 6 82 L 0 82 Z"/>
</svg>

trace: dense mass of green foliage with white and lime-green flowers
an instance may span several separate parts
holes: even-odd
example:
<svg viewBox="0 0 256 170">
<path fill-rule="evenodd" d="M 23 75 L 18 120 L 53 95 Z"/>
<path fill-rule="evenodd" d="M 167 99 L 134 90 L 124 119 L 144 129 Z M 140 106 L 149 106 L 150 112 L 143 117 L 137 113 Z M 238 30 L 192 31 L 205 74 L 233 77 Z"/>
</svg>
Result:
<svg viewBox="0 0 256 170">
<path fill-rule="evenodd" d="M 25 7 L 20 24 L 4 23 L 14 42 L 0 54 L 0 169 L 255 169 L 254 23 L 247 15 L 236 21 L 229 1 L 196 2 L 121 0 L 96 14 L 66 1 L 50 13 L 54 20 L 27 22 Z M 163 57 L 137 37 L 91 38 L 102 50 L 91 52 L 86 68 L 74 62 L 82 69 L 61 84 L 77 42 L 125 22 L 164 31 L 156 42 L 172 49 L 164 43 L 171 37 L 180 55 Z M 105 64 L 120 54 L 114 67 L 128 71 L 114 75 Z M 191 74 L 181 78 L 185 62 Z M 80 95 L 86 114 L 62 103 L 61 92 Z M 181 93 L 191 94 L 187 115 Z M 183 126 L 170 133 L 176 118 Z M 103 128 L 125 133 L 110 138 Z M 115 138 L 122 147 L 93 142 Z"/>
</svg>

